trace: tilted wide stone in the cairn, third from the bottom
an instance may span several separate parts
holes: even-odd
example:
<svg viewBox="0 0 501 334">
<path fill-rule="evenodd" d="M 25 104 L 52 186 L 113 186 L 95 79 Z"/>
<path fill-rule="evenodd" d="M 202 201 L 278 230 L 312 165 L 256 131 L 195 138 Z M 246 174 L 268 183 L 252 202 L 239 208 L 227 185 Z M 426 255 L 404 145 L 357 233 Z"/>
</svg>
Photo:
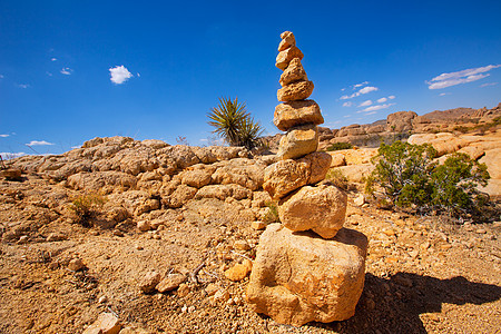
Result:
<svg viewBox="0 0 501 334">
<path fill-rule="evenodd" d="M 263 189 L 272 198 L 279 199 L 305 185 L 323 180 L 330 167 L 331 156 L 320 151 L 297 160 L 281 160 L 266 167 Z"/>
</svg>

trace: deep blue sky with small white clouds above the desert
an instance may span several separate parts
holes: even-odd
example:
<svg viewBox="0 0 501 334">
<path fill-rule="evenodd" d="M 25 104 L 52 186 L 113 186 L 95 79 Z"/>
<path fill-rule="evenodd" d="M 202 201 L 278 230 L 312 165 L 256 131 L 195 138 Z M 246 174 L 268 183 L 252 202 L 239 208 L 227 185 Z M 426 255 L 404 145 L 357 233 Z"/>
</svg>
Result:
<svg viewBox="0 0 501 334">
<path fill-rule="evenodd" d="M 285 30 L 331 128 L 491 108 L 500 13 L 501 1 L 481 0 L 0 0 L 0 153 L 59 154 L 117 135 L 206 145 L 219 97 L 237 96 L 276 134 Z"/>
</svg>

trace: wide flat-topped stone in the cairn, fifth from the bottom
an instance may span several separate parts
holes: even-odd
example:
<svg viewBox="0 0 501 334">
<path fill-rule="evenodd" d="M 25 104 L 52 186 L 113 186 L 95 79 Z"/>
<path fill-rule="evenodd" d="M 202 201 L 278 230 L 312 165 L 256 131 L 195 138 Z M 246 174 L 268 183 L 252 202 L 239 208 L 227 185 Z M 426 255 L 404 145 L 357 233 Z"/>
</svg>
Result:
<svg viewBox="0 0 501 334">
<path fill-rule="evenodd" d="M 279 130 L 286 131 L 304 124 L 323 124 L 324 118 L 314 100 L 289 101 L 276 106 L 273 122 Z"/>
</svg>

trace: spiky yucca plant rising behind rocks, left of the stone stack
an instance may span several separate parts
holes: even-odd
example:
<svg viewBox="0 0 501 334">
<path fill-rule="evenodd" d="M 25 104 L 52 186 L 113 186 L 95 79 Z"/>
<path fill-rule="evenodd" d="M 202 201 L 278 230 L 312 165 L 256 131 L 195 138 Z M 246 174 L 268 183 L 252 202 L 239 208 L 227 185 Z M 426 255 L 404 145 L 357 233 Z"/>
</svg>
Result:
<svg viewBox="0 0 501 334">
<path fill-rule="evenodd" d="M 219 98 L 219 106 L 207 114 L 208 124 L 216 129 L 215 134 L 223 137 L 230 146 L 253 148 L 258 145 L 258 136 L 263 132 L 261 125 L 250 117 L 244 102 L 238 98 Z"/>
</svg>

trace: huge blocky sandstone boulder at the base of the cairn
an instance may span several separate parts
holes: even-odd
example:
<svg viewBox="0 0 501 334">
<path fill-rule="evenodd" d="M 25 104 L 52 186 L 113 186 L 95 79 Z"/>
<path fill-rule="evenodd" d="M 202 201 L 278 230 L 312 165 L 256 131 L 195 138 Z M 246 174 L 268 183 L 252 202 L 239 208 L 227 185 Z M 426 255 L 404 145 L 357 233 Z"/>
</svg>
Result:
<svg viewBox="0 0 501 334">
<path fill-rule="evenodd" d="M 247 302 L 294 326 L 347 320 L 363 291 L 366 250 L 367 238 L 353 229 L 323 239 L 271 224 L 259 239 Z"/>
</svg>

